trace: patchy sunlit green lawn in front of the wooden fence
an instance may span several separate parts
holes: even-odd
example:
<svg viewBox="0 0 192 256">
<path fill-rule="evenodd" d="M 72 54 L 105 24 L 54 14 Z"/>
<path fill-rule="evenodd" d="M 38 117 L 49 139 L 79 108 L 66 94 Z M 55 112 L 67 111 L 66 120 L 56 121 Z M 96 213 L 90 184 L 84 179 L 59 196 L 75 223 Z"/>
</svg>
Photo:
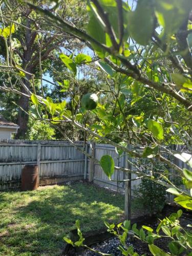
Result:
<svg viewBox="0 0 192 256">
<path fill-rule="evenodd" d="M 0 255 L 60 255 L 63 237 L 117 222 L 124 197 L 87 183 L 0 193 Z"/>
</svg>

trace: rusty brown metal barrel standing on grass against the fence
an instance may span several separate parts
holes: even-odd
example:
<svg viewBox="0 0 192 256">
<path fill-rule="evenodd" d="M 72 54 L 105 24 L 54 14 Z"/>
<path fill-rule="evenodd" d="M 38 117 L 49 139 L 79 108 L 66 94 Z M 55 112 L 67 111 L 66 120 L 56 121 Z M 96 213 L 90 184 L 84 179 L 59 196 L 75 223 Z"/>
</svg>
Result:
<svg viewBox="0 0 192 256">
<path fill-rule="evenodd" d="M 22 169 L 22 191 L 38 187 L 38 165 L 25 165 Z"/>
</svg>

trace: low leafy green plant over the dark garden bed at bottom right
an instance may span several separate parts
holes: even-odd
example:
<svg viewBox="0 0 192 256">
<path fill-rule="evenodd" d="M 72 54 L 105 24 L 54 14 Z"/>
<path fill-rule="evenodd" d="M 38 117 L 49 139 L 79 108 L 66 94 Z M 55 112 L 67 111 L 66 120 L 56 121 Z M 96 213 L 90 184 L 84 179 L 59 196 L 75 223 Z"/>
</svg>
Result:
<svg viewBox="0 0 192 256">
<path fill-rule="evenodd" d="M 192 255 L 192 232 L 184 229 L 180 225 L 180 217 L 182 216 L 182 210 L 178 210 L 177 213 L 171 214 L 169 217 L 160 220 L 159 225 L 154 231 L 153 228 L 143 225 L 142 228 L 138 229 L 137 224 L 133 224 L 131 227 L 131 221 L 124 221 L 123 223 L 119 223 L 117 226 L 115 224 L 109 224 L 108 222 L 104 222 L 105 226 L 108 228 L 108 232 L 114 234 L 114 236 L 118 237 L 120 245 L 118 249 L 121 251 L 122 255 L 125 256 L 139 256 L 137 252 L 134 251 L 133 246 L 127 246 L 126 240 L 129 234 L 132 234 L 135 238 L 141 240 L 143 243 L 148 244 L 148 249 L 154 255 L 160 256 L 168 256 L 168 255 Z M 112 255 L 102 253 L 100 251 L 96 251 L 87 245 L 83 244 L 83 237 L 80 231 L 79 221 L 76 221 L 77 232 L 79 236 L 79 240 L 73 242 L 68 238 L 64 238 L 64 240 L 71 244 L 72 246 L 82 246 L 92 251 L 95 251 L 101 255 Z M 192 225 L 188 224 L 187 227 L 191 228 Z M 168 242 L 169 251 L 165 252 L 160 249 L 158 246 L 154 244 L 154 241 L 160 238 L 167 238 L 170 242 Z"/>
</svg>

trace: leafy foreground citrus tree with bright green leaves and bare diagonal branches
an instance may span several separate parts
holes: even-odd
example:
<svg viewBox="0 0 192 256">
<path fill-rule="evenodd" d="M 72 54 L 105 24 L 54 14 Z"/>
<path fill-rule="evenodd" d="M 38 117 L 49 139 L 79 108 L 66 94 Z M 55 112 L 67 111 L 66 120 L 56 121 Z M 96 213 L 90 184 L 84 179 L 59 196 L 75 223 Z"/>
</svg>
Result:
<svg viewBox="0 0 192 256">
<path fill-rule="evenodd" d="M 165 186 L 169 193 L 176 195 L 175 201 L 178 204 L 191 210 L 192 173 L 174 161 L 178 158 L 188 164 L 188 168 L 192 167 L 191 0 L 138 0 L 137 3 L 133 1 L 132 6 L 121 0 L 90 0 L 87 2 L 89 23 L 85 30 L 72 24 L 70 19 L 67 21 L 57 15 L 61 2 L 55 1 L 51 10 L 32 3 L 28 5 L 55 30 L 59 28 L 76 37 L 90 49 L 90 54 L 58 54 L 70 72 L 69 79 L 59 83 L 58 90 L 69 92 L 72 108 L 68 108 L 66 100 L 55 103 L 51 97 L 37 95 L 35 91 L 26 88 L 25 82 L 22 83 L 25 93 L 13 86 L 1 86 L 1 90 L 31 98 L 29 114 L 33 118 L 51 122 L 58 129 L 60 124 L 67 122 L 75 129 L 84 131 L 85 141 L 94 139 L 110 143 L 116 147 L 119 155 L 125 152 L 132 159 L 147 158 L 152 164 L 165 164 L 168 167 L 163 170 L 151 168 L 146 173 L 144 166 L 138 166 L 138 161 L 132 162 L 136 167 L 133 171 L 115 166 L 114 160 L 108 155 L 94 159 L 109 179 L 115 169 L 134 173 L 137 178 Z M 9 37 L 14 32 L 10 26 L 4 28 L 1 31 L 4 38 L 8 37 L 5 36 L 5 30 Z M 76 88 L 80 86 L 81 78 L 77 74 L 87 66 L 102 76 L 104 86 L 103 82 L 98 83 L 94 92 L 80 97 Z M 7 63 L 6 67 L 2 65 L 3 68 L 14 70 L 15 67 Z M 20 72 L 25 74 L 25 71 Z M 95 117 L 93 123 L 89 121 L 89 115 Z M 171 146 L 175 144 L 182 145 L 182 153 L 177 150 L 178 147 Z M 177 216 L 171 216 L 168 223 L 163 220 L 159 227 L 159 230 L 161 228 L 166 236 L 174 240 L 169 248 L 174 255 L 183 252 L 180 247 L 186 251 L 192 247 L 191 233 L 185 231 L 186 237 L 183 238 L 180 228 L 175 228 L 179 226 L 176 220 L 180 215 L 181 212 L 177 212 Z M 114 226 L 106 225 L 109 231 L 115 232 Z M 127 225 L 118 226 L 125 232 L 124 238 L 120 238 L 122 241 L 130 229 Z M 172 232 L 172 228 L 177 231 Z M 150 232 L 147 239 L 143 229 L 138 231 L 135 226 L 132 227 L 137 237 L 150 244 L 149 248 L 154 255 L 166 255 L 166 252 L 153 245 L 152 238 L 159 236 L 159 230 L 154 234 L 153 230 L 145 229 Z M 83 243 L 80 230 L 79 236 L 77 246 Z M 123 255 L 129 255 L 132 252 L 128 250 L 121 251 Z"/>
</svg>

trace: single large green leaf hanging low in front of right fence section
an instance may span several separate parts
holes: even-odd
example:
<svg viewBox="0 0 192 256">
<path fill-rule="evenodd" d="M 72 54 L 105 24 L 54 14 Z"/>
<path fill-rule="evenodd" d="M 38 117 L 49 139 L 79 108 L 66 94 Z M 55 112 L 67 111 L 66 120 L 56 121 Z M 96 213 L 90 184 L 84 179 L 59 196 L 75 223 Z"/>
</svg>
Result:
<svg viewBox="0 0 192 256">
<path fill-rule="evenodd" d="M 111 176 L 113 175 L 115 170 L 115 163 L 113 158 L 110 155 L 102 156 L 100 159 L 100 165 L 106 176 L 111 179 Z"/>
</svg>

